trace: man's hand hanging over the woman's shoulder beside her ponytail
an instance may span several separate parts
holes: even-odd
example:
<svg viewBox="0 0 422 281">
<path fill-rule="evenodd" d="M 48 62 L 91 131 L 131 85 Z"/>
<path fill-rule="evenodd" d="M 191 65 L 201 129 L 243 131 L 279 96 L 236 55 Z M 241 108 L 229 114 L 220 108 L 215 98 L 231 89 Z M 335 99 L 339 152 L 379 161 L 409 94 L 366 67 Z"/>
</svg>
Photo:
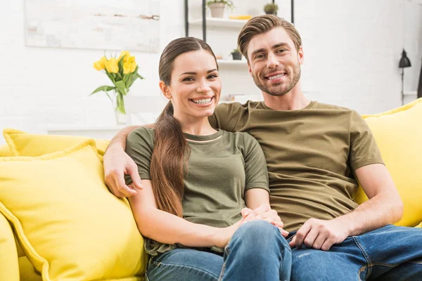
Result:
<svg viewBox="0 0 422 281">
<path fill-rule="evenodd" d="M 135 188 L 142 189 L 141 177 L 134 160 L 119 145 L 109 147 L 103 157 L 104 178 L 108 189 L 116 197 L 136 195 L 136 190 L 124 183 L 124 174 L 132 177 Z"/>
</svg>

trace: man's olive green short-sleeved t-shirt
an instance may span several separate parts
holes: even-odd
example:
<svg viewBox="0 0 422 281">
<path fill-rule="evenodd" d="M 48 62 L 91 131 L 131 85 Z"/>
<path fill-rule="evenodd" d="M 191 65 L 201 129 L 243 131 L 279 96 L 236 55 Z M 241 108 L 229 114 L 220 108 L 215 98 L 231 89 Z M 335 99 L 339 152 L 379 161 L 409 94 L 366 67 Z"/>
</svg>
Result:
<svg viewBox="0 0 422 281">
<path fill-rule="evenodd" d="M 248 132 L 267 159 L 271 207 L 284 228 L 309 218 L 331 219 L 357 207 L 359 167 L 383 163 L 369 126 L 347 108 L 312 101 L 302 110 L 272 110 L 264 102 L 224 103 L 210 123 Z"/>
</svg>

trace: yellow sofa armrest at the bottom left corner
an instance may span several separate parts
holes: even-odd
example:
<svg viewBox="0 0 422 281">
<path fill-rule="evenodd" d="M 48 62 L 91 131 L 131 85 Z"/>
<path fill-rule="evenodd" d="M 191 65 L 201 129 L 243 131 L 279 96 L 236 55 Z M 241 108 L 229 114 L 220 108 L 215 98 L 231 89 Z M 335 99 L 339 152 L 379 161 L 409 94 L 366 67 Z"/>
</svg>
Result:
<svg viewBox="0 0 422 281">
<path fill-rule="evenodd" d="M 0 280 L 19 281 L 18 251 L 10 223 L 0 214 Z"/>
</svg>

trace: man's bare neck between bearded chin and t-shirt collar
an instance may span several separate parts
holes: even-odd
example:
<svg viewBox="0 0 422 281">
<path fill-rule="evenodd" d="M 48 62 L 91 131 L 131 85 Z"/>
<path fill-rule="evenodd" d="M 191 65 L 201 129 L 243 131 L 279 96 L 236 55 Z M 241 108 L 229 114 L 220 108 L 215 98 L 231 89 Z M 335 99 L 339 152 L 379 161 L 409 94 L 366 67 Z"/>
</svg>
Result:
<svg viewBox="0 0 422 281">
<path fill-rule="evenodd" d="M 264 96 L 265 105 L 273 110 L 301 110 L 310 103 L 310 100 L 303 95 L 300 84 L 296 84 L 283 96 L 271 96 L 268 93 L 262 93 L 262 96 Z"/>
</svg>

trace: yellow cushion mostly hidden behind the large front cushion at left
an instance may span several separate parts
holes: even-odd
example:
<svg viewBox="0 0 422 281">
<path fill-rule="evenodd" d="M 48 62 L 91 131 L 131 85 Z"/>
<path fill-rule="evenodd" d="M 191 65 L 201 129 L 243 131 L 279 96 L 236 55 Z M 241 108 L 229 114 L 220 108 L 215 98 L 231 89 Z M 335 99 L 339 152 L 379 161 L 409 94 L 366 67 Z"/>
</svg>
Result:
<svg viewBox="0 0 422 281">
<path fill-rule="evenodd" d="M 82 136 L 37 135 L 15 129 L 4 129 L 3 136 L 13 156 L 41 156 L 65 150 L 88 139 Z M 108 143 L 110 141 L 96 140 L 99 155 L 104 155 Z"/>
</svg>

